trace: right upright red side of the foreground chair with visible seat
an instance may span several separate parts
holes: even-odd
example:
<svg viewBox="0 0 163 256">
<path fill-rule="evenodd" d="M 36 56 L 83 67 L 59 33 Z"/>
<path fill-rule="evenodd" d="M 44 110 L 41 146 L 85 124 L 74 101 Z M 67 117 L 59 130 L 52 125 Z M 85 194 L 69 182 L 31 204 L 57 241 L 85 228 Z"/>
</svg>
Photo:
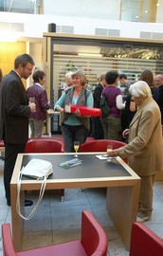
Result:
<svg viewBox="0 0 163 256">
<path fill-rule="evenodd" d="M 88 256 L 107 255 L 108 238 L 106 232 L 89 210 L 83 210 L 81 214 L 81 244 Z"/>
</svg>

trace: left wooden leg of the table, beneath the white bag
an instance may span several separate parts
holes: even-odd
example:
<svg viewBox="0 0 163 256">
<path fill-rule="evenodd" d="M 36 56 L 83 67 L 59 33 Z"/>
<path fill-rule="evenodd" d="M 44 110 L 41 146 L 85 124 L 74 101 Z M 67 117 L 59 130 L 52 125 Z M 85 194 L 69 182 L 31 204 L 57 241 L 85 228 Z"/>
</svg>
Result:
<svg viewBox="0 0 163 256">
<path fill-rule="evenodd" d="M 15 186 L 10 186 L 11 194 L 11 222 L 12 222 L 12 239 L 13 246 L 16 251 L 22 250 L 23 243 L 23 229 L 24 220 L 19 216 L 16 210 L 16 200 L 17 200 L 17 188 Z M 21 191 L 21 212 L 25 214 L 25 192 Z"/>
</svg>

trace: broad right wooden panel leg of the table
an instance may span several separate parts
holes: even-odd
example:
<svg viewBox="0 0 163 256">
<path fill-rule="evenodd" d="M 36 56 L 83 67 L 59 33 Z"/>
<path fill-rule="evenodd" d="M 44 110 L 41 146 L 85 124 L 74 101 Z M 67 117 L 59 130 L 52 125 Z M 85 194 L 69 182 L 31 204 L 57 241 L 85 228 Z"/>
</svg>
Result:
<svg viewBox="0 0 163 256">
<path fill-rule="evenodd" d="M 136 221 L 140 181 L 133 186 L 107 188 L 106 210 L 129 250 L 132 225 Z"/>
</svg>

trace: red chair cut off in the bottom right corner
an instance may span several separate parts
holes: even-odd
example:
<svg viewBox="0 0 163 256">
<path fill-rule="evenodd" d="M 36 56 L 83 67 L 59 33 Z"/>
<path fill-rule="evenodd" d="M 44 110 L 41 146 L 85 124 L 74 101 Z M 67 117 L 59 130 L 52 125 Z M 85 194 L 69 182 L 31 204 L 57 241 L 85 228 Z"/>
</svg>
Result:
<svg viewBox="0 0 163 256">
<path fill-rule="evenodd" d="M 132 227 L 130 256 L 162 256 L 163 239 L 143 223 L 135 222 Z"/>
</svg>

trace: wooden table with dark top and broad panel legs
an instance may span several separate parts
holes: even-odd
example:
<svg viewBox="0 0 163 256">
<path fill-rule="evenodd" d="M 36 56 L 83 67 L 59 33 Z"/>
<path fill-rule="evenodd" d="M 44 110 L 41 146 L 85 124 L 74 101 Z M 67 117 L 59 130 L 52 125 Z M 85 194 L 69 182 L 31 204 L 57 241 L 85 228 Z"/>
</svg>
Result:
<svg viewBox="0 0 163 256">
<path fill-rule="evenodd" d="M 140 178 L 124 161 L 117 157 L 117 163 L 100 160 L 96 155 L 103 153 L 79 153 L 83 163 L 80 166 L 64 170 L 61 162 L 72 159 L 74 154 L 19 154 L 10 182 L 12 236 L 16 251 L 22 248 L 24 221 L 16 211 L 17 177 L 22 166 L 31 158 L 48 160 L 53 165 L 52 174 L 45 190 L 100 188 L 107 187 L 106 209 L 118 234 L 129 249 L 132 224 L 136 221 Z M 73 170 L 72 170 L 73 169 Z M 24 179 L 21 186 L 21 209 L 24 213 L 25 191 L 40 190 L 41 181 Z"/>
</svg>

